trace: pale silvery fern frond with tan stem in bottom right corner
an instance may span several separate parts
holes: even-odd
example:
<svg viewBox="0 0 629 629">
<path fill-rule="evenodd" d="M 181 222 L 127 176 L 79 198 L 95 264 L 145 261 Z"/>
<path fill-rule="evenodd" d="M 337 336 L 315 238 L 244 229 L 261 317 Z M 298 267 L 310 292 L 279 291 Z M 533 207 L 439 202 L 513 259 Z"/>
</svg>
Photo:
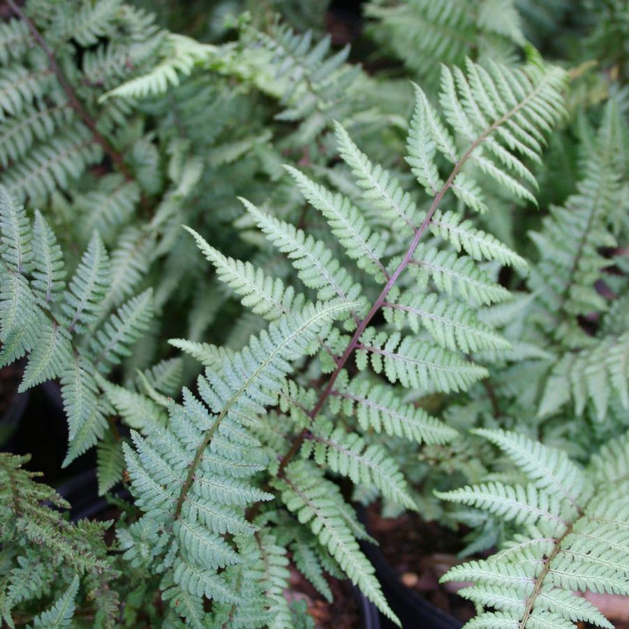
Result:
<svg viewBox="0 0 629 629">
<path fill-rule="evenodd" d="M 611 628 L 573 591 L 629 593 L 626 539 L 614 526 L 627 509 L 627 435 L 603 447 L 584 471 L 565 453 L 524 436 L 476 432 L 501 447 L 530 484 L 489 482 L 438 494 L 524 527 L 494 556 L 457 565 L 443 577 L 472 581 L 459 593 L 481 610 L 495 610 L 480 611 L 466 626 L 571 627 L 585 621 Z"/>
</svg>

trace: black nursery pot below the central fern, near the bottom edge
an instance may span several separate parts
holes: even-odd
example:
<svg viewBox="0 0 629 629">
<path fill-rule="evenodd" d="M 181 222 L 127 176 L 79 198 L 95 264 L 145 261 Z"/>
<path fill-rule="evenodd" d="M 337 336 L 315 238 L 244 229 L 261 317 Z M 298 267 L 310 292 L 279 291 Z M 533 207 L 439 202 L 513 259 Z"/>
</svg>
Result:
<svg viewBox="0 0 629 629">
<path fill-rule="evenodd" d="M 367 526 L 369 523 L 365 510 L 358 508 L 357 512 L 362 523 Z M 385 598 L 400 619 L 404 629 L 458 629 L 463 626 L 459 619 L 446 614 L 443 610 L 422 598 L 417 592 L 406 587 L 376 545 L 362 542 L 361 547 L 373 568 L 376 569 L 376 578 L 380 582 L 380 586 L 382 586 Z M 381 627 L 382 629 L 393 629 L 396 627 L 392 621 L 382 614 L 380 614 L 378 624 L 369 626 Z"/>
</svg>

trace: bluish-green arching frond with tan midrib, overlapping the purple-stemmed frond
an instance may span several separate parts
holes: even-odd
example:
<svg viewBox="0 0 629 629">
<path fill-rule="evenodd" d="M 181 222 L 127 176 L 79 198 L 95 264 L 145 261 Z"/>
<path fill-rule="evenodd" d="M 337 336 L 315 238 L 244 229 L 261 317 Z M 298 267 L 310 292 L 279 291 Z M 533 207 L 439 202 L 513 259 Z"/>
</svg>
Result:
<svg viewBox="0 0 629 629">
<path fill-rule="evenodd" d="M 256 527 L 241 515 L 244 505 L 272 497 L 248 480 L 265 467 L 266 457 L 246 427 L 272 404 L 289 361 L 308 353 L 316 335 L 352 306 L 306 305 L 274 321 L 199 379 L 200 395 L 216 415 L 184 392 L 184 405 L 170 406 L 168 428 L 147 424 L 146 437 L 133 433 L 135 449 L 124 445 L 133 493 L 146 517 L 175 521 L 172 579 L 189 594 L 244 604 L 216 567 L 246 561 L 228 552 L 232 547 L 222 536 L 251 535 Z"/>
</svg>

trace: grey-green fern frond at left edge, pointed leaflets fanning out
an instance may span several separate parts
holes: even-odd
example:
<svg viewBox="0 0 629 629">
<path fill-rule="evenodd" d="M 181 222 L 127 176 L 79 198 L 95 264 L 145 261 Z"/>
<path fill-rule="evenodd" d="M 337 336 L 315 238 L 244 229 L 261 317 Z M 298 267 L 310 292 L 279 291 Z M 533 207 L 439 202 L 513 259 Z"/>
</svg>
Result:
<svg viewBox="0 0 629 629">
<path fill-rule="evenodd" d="M 66 287 L 54 232 L 39 213 L 31 225 L 4 188 L 0 223 L 0 356 L 9 364 L 29 355 L 20 391 L 60 380 L 70 437 L 67 465 L 105 435 L 108 405 L 94 373 L 110 371 L 147 330 L 151 293 L 129 299 L 113 313 L 103 312 L 110 263 L 96 233 Z"/>
</svg>

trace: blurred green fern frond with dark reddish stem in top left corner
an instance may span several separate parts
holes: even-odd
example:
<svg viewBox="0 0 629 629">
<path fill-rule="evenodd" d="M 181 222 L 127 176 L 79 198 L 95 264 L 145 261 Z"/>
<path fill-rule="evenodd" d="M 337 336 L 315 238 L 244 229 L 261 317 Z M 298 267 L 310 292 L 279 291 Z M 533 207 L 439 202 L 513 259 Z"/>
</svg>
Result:
<svg viewBox="0 0 629 629">
<path fill-rule="evenodd" d="M 56 17 L 35 9 L 31 17 L 30 6 L 13 2 L 10 10 L 14 19 L 3 33 L 13 52 L 3 55 L 0 70 L 0 184 L 20 200 L 43 200 L 67 191 L 104 155 L 132 181 L 114 139 L 128 110 L 98 111 L 96 100 L 101 84 L 128 77 L 134 65 L 147 68 L 147 52 L 161 41 L 150 18 L 109 0 L 76 11 L 68 2 Z M 93 46 L 84 68 L 68 72 L 82 65 L 80 50 Z M 94 63 L 94 56 L 105 63 Z"/>
</svg>

